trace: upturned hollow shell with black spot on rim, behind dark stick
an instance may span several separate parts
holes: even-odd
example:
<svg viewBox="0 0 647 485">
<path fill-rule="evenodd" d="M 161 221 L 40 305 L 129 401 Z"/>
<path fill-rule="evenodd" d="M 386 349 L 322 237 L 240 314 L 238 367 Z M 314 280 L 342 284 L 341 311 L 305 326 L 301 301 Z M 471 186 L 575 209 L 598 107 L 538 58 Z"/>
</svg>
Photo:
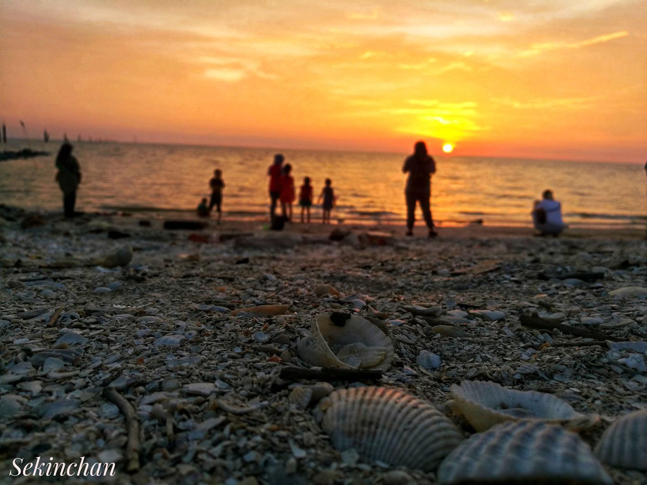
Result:
<svg viewBox="0 0 647 485">
<path fill-rule="evenodd" d="M 318 315 L 297 350 L 307 363 L 322 367 L 386 370 L 393 360 L 393 343 L 382 330 L 360 316 L 338 312 Z"/>
</svg>

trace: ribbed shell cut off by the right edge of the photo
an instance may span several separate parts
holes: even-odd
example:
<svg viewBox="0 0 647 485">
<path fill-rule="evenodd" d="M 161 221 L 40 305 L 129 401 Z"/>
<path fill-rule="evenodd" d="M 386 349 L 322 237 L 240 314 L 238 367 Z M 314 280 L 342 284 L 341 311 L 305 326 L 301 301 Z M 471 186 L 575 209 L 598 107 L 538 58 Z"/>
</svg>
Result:
<svg viewBox="0 0 647 485">
<path fill-rule="evenodd" d="M 647 470 L 647 409 L 613 422 L 602 434 L 595 455 L 611 466 Z"/>
</svg>

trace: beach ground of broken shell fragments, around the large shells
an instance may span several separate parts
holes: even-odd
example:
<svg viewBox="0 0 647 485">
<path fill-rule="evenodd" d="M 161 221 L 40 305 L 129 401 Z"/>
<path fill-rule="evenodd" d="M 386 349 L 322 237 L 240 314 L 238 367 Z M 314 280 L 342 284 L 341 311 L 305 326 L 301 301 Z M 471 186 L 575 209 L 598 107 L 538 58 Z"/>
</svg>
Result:
<svg viewBox="0 0 647 485">
<path fill-rule="evenodd" d="M 474 429 L 448 402 L 452 384 L 468 380 L 540 391 L 598 415 L 580 432 L 592 447 L 619 416 L 647 409 L 647 372 L 634 365 L 647 352 L 609 347 L 647 338 L 647 295 L 611 293 L 644 290 L 643 228 L 543 238 L 473 224 L 428 239 L 422 227 L 404 237 L 392 225 L 163 228 L 181 213 L 66 221 L 3 206 L 0 215 L 4 477 L 15 457 L 51 456 L 115 462 L 116 475 L 97 480 L 120 484 L 437 483 L 433 471 L 340 453 L 316 403 L 294 399 L 295 386 L 320 379 L 280 374 L 311 369 L 298 341 L 325 312 L 379 320 L 393 342 L 381 377 L 332 378 L 335 389 L 400 389 L 465 437 Z M 236 311 L 258 305 L 283 307 Z M 533 314 L 548 327 L 522 323 Z M 609 342 L 549 329 L 556 323 Z M 423 351 L 439 361 L 428 365 Z M 138 424 L 134 448 L 115 394 Z M 617 484 L 647 482 L 641 471 L 604 469 Z"/>
</svg>

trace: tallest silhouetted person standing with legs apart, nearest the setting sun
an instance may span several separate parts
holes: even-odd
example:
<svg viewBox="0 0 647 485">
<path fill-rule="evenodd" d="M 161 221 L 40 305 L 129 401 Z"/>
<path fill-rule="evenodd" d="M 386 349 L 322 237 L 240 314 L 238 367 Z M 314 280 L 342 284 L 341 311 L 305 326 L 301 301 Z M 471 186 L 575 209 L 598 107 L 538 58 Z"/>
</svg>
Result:
<svg viewBox="0 0 647 485">
<path fill-rule="evenodd" d="M 420 203 L 422 216 L 429 229 L 429 237 L 437 236 L 434 230 L 430 197 L 432 196 L 432 174 L 436 173 L 436 163 L 427 153 L 424 142 L 417 142 L 413 155 L 404 160 L 402 173 L 409 172 L 406 182 L 406 235 L 413 235 L 413 222 L 415 221 L 415 206 Z"/>
</svg>

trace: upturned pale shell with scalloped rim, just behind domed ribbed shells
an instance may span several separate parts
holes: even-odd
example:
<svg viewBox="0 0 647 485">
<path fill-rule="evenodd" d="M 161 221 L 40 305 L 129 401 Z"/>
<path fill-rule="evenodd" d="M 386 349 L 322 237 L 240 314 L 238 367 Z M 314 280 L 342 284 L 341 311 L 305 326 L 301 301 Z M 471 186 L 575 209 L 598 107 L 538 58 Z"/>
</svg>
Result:
<svg viewBox="0 0 647 485">
<path fill-rule="evenodd" d="M 461 413 L 476 431 L 520 419 L 582 429 L 591 426 L 599 418 L 597 415 L 580 414 L 570 404 L 551 394 L 515 391 L 494 382 L 463 381 L 461 385 L 452 385 L 451 391 Z"/>
</svg>

